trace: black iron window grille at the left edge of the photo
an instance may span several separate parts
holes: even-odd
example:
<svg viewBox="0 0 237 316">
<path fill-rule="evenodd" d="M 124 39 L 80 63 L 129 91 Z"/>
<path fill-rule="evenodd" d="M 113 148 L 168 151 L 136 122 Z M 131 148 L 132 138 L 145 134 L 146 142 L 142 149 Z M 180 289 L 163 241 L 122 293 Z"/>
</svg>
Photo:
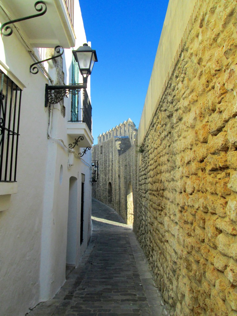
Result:
<svg viewBox="0 0 237 316">
<path fill-rule="evenodd" d="M 0 181 L 16 181 L 21 89 L 0 70 Z"/>
</svg>

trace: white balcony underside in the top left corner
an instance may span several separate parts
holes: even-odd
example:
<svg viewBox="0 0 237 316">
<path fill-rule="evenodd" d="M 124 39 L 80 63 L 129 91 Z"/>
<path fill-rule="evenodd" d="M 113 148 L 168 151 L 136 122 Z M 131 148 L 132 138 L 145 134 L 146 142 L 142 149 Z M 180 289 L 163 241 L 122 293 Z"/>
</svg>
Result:
<svg viewBox="0 0 237 316">
<path fill-rule="evenodd" d="M 1 24 L 37 14 L 34 8 L 35 2 L 36 0 L 1 0 Z M 38 4 L 38 8 L 40 6 L 41 4 Z M 64 48 L 74 47 L 76 40 L 73 28 L 74 0 L 47 0 L 46 6 L 47 11 L 44 15 L 19 21 L 15 26 L 32 47 L 57 45 Z"/>
</svg>

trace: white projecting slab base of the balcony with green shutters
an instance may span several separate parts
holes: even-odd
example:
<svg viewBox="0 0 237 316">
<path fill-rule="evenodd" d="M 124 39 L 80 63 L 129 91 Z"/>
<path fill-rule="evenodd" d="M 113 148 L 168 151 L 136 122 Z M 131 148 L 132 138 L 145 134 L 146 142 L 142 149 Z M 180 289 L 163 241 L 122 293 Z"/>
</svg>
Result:
<svg viewBox="0 0 237 316">
<path fill-rule="evenodd" d="M 78 147 L 80 148 L 86 148 L 86 147 L 92 147 L 93 145 L 93 137 L 91 135 L 91 132 L 88 129 L 88 126 L 86 123 L 81 122 L 68 122 L 67 123 L 67 134 L 72 138 L 72 144 L 75 142 L 79 136 L 82 136 L 83 139 L 79 139 L 78 141 Z M 74 146 L 74 144 L 73 144 Z M 75 148 L 74 148 L 75 149 Z"/>
</svg>

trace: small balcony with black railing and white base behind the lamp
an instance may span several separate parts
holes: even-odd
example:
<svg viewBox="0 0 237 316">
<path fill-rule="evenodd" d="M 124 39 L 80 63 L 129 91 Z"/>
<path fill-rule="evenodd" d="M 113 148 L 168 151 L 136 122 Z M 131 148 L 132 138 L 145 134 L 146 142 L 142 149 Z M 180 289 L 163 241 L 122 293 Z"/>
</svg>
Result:
<svg viewBox="0 0 237 316">
<path fill-rule="evenodd" d="M 75 106 L 76 103 L 76 106 Z M 67 134 L 73 139 L 83 136 L 78 146 L 81 148 L 92 147 L 93 137 L 91 135 L 91 112 L 92 107 L 86 89 L 83 89 L 82 108 L 78 109 L 76 97 L 72 97 L 71 119 L 67 124 Z"/>
</svg>

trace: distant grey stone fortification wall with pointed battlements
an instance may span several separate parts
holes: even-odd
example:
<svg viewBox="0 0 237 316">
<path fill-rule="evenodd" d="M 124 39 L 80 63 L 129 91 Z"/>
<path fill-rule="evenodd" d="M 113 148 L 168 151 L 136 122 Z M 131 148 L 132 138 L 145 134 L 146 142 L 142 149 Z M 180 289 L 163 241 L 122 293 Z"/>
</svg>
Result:
<svg viewBox="0 0 237 316">
<path fill-rule="evenodd" d="M 92 196 L 113 207 L 130 224 L 133 223 L 136 163 L 136 146 L 132 145 L 136 134 L 135 124 L 128 119 L 100 134 L 92 153 L 92 159 L 99 163 L 99 179 L 93 183 Z"/>
</svg>

